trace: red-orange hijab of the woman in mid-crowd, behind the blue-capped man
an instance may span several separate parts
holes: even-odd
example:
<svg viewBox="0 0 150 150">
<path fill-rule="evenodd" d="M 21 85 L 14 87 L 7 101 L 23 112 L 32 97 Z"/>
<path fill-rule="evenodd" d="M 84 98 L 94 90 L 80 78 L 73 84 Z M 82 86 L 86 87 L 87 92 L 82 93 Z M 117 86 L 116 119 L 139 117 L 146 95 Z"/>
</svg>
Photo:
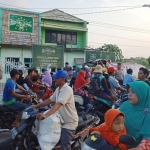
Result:
<svg viewBox="0 0 150 150">
<path fill-rule="evenodd" d="M 85 84 L 87 84 L 84 77 L 85 77 L 85 72 L 83 70 L 79 71 L 75 84 L 74 84 L 74 88 L 76 90 L 82 88 Z"/>
</svg>

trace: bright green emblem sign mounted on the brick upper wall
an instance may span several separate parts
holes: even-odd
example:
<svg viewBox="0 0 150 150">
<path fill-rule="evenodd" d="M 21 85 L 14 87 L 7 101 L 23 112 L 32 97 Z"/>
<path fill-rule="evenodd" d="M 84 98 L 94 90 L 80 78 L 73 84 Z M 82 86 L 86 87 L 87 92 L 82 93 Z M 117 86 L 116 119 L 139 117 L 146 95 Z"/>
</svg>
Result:
<svg viewBox="0 0 150 150">
<path fill-rule="evenodd" d="M 33 17 L 10 14 L 9 30 L 18 32 L 33 32 Z"/>
</svg>

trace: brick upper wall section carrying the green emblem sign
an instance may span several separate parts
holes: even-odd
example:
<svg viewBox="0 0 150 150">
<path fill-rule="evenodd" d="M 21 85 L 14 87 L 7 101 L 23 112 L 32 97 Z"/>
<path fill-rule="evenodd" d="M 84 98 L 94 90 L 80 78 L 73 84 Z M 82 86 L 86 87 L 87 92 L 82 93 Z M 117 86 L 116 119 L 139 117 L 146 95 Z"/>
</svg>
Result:
<svg viewBox="0 0 150 150">
<path fill-rule="evenodd" d="M 12 15 L 13 18 L 10 18 Z M 14 18 L 14 16 L 18 16 L 18 19 Z M 32 22 L 28 20 L 29 18 L 32 19 Z M 41 31 L 39 13 L 13 8 L 0 8 L 0 19 L 0 30 L 2 31 L 0 32 L 0 37 L 3 37 L 0 43 L 13 45 L 39 44 L 39 31 Z M 12 19 L 14 20 L 12 21 Z M 22 26 L 19 25 L 19 21 Z M 15 29 L 18 27 L 20 30 L 10 30 L 10 23 Z M 28 32 L 29 28 L 32 28 L 32 31 Z"/>
</svg>

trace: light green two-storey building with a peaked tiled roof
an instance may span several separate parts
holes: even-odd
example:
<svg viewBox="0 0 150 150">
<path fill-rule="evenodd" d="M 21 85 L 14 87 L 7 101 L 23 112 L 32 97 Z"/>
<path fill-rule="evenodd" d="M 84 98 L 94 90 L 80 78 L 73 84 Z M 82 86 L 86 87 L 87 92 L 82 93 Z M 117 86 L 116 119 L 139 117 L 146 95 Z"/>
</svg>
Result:
<svg viewBox="0 0 150 150">
<path fill-rule="evenodd" d="M 88 22 L 58 9 L 41 14 L 41 43 L 62 46 L 64 63 L 81 65 L 85 61 Z"/>
</svg>

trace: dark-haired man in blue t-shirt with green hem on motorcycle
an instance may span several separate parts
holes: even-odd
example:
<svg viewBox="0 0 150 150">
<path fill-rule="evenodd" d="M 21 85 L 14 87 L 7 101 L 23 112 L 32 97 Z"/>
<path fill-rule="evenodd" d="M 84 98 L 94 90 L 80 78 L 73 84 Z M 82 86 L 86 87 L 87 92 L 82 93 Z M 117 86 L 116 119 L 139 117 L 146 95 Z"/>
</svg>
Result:
<svg viewBox="0 0 150 150">
<path fill-rule="evenodd" d="M 22 111 L 26 109 L 28 105 L 16 102 L 16 98 L 30 98 L 30 95 L 20 95 L 15 92 L 15 89 L 17 87 L 21 91 L 28 93 L 27 90 L 25 90 L 22 86 L 16 83 L 16 80 L 19 79 L 19 72 L 17 69 L 13 69 L 10 71 L 10 77 L 11 78 L 6 81 L 4 86 L 2 102 L 5 107 L 18 113 L 17 119 L 12 124 L 12 126 L 18 126 L 19 120 L 21 119 Z"/>
</svg>

